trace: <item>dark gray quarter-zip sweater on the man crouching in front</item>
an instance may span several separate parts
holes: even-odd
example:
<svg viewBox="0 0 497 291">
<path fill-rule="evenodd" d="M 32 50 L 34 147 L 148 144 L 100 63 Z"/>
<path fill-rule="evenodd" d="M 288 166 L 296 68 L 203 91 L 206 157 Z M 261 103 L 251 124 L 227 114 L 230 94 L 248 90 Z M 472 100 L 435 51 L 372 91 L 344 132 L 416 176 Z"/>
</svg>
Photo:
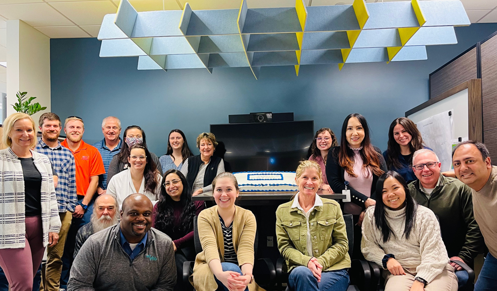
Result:
<svg viewBox="0 0 497 291">
<path fill-rule="evenodd" d="M 68 291 L 172 291 L 176 265 L 171 239 L 155 228 L 131 261 L 121 247 L 119 224 L 91 235 L 76 256 Z"/>
</svg>

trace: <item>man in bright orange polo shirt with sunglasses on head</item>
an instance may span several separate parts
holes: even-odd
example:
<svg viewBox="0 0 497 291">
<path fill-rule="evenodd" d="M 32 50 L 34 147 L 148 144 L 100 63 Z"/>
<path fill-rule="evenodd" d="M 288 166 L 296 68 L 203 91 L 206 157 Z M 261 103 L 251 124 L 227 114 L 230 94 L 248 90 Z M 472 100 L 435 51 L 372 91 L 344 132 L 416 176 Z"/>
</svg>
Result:
<svg viewBox="0 0 497 291">
<path fill-rule="evenodd" d="M 69 279 L 69 270 L 73 260 L 76 233 L 90 221 L 93 211 L 93 195 L 98 186 L 98 175 L 105 173 L 102 156 L 98 149 L 83 142 L 84 123 L 80 117 L 71 116 L 66 119 L 64 132 L 67 138 L 61 143 L 74 155 L 76 163 L 76 191 L 78 205 L 73 213 L 73 223 L 69 229 L 62 258 L 63 267 L 60 288 L 65 289 Z"/>
</svg>

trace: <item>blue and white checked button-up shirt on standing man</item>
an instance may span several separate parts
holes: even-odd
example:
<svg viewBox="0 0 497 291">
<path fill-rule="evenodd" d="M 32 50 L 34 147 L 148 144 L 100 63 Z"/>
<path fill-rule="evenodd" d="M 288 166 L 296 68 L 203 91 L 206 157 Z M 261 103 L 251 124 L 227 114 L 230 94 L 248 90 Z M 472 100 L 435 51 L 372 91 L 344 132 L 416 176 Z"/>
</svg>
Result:
<svg viewBox="0 0 497 291">
<path fill-rule="evenodd" d="M 74 212 L 78 204 L 78 196 L 76 194 L 76 164 L 73 153 L 61 146 L 61 143 L 52 148 L 41 139 L 36 144 L 35 150 L 48 156 L 52 167 L 59 176 L 57 188 L 55 188 L 59 212 Z"/>
</svg>

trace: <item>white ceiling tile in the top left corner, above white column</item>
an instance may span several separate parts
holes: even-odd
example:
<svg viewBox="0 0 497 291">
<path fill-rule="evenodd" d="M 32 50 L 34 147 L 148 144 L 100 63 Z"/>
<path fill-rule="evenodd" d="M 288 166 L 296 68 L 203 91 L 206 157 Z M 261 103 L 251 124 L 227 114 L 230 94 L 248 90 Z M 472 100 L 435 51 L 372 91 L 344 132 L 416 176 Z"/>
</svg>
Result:
<svg viewBox="0 0 497 291">
<path fill-rule="evenodd" d="M 6 4 L 0 6 L 0 11 L 7 19 L 20 19 L 31 26 L 73 24 L 47 3 Z"/>
</svg>

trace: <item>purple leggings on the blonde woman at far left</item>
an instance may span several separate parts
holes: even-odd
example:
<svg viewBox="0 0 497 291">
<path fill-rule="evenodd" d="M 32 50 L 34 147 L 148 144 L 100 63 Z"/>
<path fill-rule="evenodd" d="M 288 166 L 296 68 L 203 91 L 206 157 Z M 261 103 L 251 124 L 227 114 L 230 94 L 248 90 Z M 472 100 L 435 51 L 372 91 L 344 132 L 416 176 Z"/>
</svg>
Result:
<svg viewBox="0 0 497 291">
<path fill-rule="evenodd" d="M 26 246 L 0 249 L 0 267 L 11 291 L 32 291 L 33 278 L 43 259 L 43 228 L 40 216 L 26 217 Z"/>
</svg>

